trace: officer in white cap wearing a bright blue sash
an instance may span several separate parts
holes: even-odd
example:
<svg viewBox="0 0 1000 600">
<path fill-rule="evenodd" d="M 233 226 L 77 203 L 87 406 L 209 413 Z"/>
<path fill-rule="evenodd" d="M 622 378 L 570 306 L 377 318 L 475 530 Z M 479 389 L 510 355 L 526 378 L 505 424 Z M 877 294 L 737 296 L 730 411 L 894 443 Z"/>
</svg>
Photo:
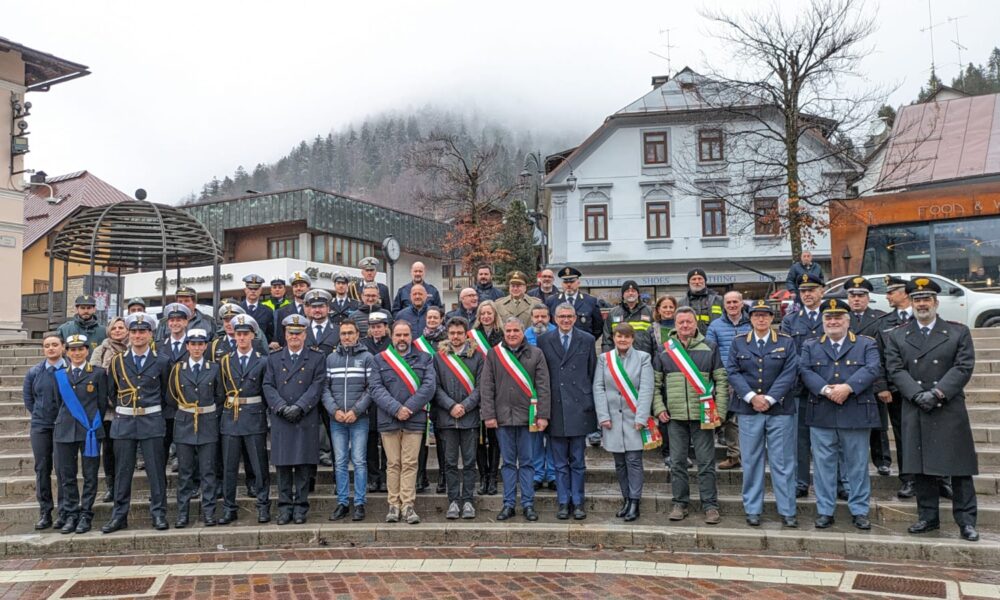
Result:
<svg viewBox="0 0 1000 600">
<path fill-rule="evenodd" d="M 90 531 L 97 499 L 108 380 L 104 369 L 87 363 L 87 348 L 87 336 L 69 336 L 66 355 L 70 364 L 61 373 L 55 373 L 60 401 L 52 436 L 59 473 L 59 500 L 66 515 L 62 533 Z M 76 483 L 77 460 L 83 465 L 82 498 Z"/>
</svg>

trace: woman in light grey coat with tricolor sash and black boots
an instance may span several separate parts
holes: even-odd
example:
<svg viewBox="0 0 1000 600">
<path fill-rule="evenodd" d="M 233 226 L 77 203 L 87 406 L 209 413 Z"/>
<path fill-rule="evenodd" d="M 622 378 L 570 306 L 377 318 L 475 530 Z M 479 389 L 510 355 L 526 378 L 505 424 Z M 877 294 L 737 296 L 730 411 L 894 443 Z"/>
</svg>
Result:
<svg viewBox="0 0 1000 600">
<path fill-rule="evenodd" d="M 628 323 L 614 329 L 615 349 L 597 358 L 594 373 L 594 407 L 601 425 L 604 449 L 615 459 L 615 473 L 622 490 L 622 507 L 615 514 L 626 521 L 639 518 L 639 501 L 642 498 L 642 431 L 650 416 L 653 402 L 653 365 L 649 354 L 632 348 L 635 331 Z M 619 391 L 618 377 L 609 368 L 609 358 L 618 357 L 620 364 L 636 391 L 636 410 L 629 407 Z M 620 382 L 628 386 L 625 381 Z"/>
</svg>

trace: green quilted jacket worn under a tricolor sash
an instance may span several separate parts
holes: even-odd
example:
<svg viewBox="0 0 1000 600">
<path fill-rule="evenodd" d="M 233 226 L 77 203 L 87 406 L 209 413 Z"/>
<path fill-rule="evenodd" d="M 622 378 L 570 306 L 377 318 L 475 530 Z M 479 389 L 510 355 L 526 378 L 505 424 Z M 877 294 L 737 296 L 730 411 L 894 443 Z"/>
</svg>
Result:
<svg viewBox="0 0 1000 600">
<path fill-rule="evenodd" d="M 671 332 L 670 337 L 677 338 L 677 332 Z M 725 419 L 729 402 L 729 379 L 726 367 L 719 357 L 719 350 L 706 342 L 705 336 L 697 333 L 688 343 L 687 353 L 705 379 L 715 384 L 715 406 L 719 417 Z M 666 410 L 671 419 L 697 421 L 701 418 L 698 394 L 666 351 L 661 350 L 653 357 L 653 376 L 653 414 L 658 415 Z"/>
</svg>

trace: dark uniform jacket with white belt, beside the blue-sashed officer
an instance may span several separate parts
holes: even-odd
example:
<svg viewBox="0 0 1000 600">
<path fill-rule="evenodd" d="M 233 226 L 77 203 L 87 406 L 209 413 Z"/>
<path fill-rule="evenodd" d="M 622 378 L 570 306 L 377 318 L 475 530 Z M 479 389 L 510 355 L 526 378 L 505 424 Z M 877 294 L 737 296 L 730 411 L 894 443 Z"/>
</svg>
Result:
<svg viewBox="0 0 1000 600">
<path fill-rule="evenodd" d="M 135 355 L 132 350 L 119 354 L 111 361 L 109 375 L 109 396 L 112 406 L 150 408 L 159 406 L 161 409 L 167 398 L 167 378 L 170 375 L 170 364 L 167 357 L 147 350 L 142 369 L 135 368 Z M 129 385 L 135 387 L 135 402 L 129 393 Z M 116 440 L 144 440 L 166 435 L 166 422 L 163 412 L 147 415 L 122 415 L 117 412 L 111 421 L 111 437 Z"/>
</svg>

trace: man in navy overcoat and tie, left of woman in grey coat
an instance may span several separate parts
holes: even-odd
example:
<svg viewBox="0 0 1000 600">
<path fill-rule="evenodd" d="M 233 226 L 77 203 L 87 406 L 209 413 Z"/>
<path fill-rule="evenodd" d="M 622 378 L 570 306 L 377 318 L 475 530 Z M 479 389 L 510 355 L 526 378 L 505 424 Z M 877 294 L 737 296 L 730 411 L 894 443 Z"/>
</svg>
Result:
<svg viewBox="0 0 1000 600">
<path fill-rule="evenodd" d="M 538 338 L 549 369 L 552 405 L 547 433 L 556 471 L 556 518 L 587 518 L 584 509 L 584 474 L 587 434 L 597 428 L 594 408 L 594 369 L 597 354 L 594 336 L 575 327 L 576 309 L 568 302 L 555 308 L 556 330 Z M 543 435 L 533 432 L 530 435 Z"/>
</svg>

